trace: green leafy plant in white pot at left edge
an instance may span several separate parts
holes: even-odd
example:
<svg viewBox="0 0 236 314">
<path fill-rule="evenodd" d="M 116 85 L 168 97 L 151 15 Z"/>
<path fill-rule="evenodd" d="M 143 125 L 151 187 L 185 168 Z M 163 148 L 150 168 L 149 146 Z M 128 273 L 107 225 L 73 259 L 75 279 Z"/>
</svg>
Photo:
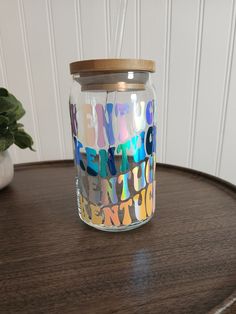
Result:
<svg viewBox="0 0 236 314">
<path fill-rule="evenodd" d="M 13 164 L 8 148 L 16 144 L 20 148 L 33 150 L 33 140 L 17 121 L 25 110 L 12 94 L 0 87 L 0 189 L 8 185 L 13 178 Z"/>
</svg>

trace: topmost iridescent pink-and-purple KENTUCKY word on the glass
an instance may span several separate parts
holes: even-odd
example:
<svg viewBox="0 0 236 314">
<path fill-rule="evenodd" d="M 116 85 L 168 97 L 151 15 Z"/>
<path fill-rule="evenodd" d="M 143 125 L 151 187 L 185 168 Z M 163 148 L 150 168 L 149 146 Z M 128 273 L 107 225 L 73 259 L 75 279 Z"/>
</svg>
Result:
<svg viewBox="0 0 236 314">
<path fill-rule="evenodd" d="M 86 104 L 79 115 L 87 145 L 104 148 L 115 145 L 117 142 L 124 143 L 133 134 L 153 125 L 154 108 L 154 100 L 148 101 L 147 104 L 140 101 L 133 105 L 129 103 L 116 103 L 114 105 L 107 103 L 105 106 Z M 70 112 L 72 131 L 77 136 L 77 113 L 74 105 L 70 105 Z M 117 126 L 119 126 L 118 130 L 114 131 Z"/>
</svg>

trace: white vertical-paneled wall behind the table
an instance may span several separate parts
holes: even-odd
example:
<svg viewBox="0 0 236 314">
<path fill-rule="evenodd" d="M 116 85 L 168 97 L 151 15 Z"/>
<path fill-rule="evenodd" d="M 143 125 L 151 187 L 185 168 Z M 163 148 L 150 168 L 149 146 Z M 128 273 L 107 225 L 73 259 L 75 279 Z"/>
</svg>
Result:
<svg viewBox="0 0 236 314">
<path fill-rule="evenodd" d="M 119 0 L 0 0 L 0 85 L 24 103 L 36 153 L 72 157 L 68 64 L 108 56 Z M 236 183 L 234 0 L 128 0 L 122 57 L 157 62 L 158 159 Z"/>
</svg>

